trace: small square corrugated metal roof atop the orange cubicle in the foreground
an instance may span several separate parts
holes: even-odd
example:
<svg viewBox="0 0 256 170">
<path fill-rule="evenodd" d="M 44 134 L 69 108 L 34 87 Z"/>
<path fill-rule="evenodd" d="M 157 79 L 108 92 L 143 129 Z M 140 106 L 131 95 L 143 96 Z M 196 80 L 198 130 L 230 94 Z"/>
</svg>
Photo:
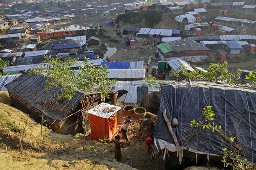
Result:
<svg viewBox="0 0 256 170">
<path fill-rule="evenodd" d="M 118 106 L 110 105 L 108 103 L 101 103 L 98 106 L 88 110 L 88 113 L 108 119 L 120 109 L 121 107 Z"/>
</svg>

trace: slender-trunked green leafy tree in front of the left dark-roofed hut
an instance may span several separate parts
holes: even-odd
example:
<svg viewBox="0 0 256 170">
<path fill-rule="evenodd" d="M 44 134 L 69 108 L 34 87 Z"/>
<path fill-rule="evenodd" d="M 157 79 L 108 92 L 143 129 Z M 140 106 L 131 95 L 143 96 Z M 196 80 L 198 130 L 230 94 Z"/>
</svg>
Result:
<svg viewBox="0 0 256 170">
<path fill-rule="evenodd" d="M 108 72 L 106 69 L 95 67 L 89 63 L 88 60 L 84 60 L 83 64 L 81 64 L 81 71 L 76 74 L 75 70 L 71 68 L 76 61 L 77 59 L 67 58 L 62 62 L 61 56 L 54 58 L 46 56 L 42 66 L 30 70 L 31 75 L 43 76 L 46 78 L 44 85 L 46 97 L 41 115 L 42 137 L 45 107 L 52 88 L 61 88 L 61 93 L 57 94 L 58 100 L 71 100 L 76 94 L 76 91 L 81 91 L 85 94 L 99 92 L 102 95 L 108 96 L 108 86 L 114 83 L 107 78 Z"/>
</svg>

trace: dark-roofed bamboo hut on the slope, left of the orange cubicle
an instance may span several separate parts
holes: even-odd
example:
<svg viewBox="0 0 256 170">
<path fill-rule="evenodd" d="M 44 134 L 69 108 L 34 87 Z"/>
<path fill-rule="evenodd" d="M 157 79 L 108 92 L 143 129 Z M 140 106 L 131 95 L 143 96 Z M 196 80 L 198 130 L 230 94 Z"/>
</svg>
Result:
<svg viewBox="0 0 256 170">
<path fill-rule="evenodd" d="M 5 87 L 13 104 L 40 122 L 44 100 L 47 95 L 44 88 L 46 79 L 42 76 L 31 76 L 25 72 Z M 62 134 L 90 133 L 90 123 L 87 111 L 104 102 L 100 94 L 84 94 L 76 92 L 71 100 L 57 99 L 61 92 L 59 87 L 50 90 L 46 102 L 44 119 L 54 131 Z M 114 96 L 114 97 L 112 97 Z M 110 94 L 111 101 L 115 95 Z"/>
</svg>

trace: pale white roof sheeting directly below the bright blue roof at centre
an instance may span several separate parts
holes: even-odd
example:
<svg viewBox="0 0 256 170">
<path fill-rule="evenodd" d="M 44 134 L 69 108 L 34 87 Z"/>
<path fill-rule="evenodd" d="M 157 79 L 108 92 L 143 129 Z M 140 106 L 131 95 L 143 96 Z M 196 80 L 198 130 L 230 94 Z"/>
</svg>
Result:
<svg viewBox="0 0 256 170">
<path fill-rule="evenodd" d="M 108 78 L 145 78 L 145 69 L 108 69 Z"/>
</svg>

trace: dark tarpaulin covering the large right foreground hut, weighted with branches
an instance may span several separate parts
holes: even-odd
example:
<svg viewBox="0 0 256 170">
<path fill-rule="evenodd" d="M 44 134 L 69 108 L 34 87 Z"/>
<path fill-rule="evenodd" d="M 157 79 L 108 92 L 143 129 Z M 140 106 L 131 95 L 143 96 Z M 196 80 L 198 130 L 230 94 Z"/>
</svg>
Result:
<svg viewBox="0 0 256 170">
<path fill-rule="evenodd" d="M 227 137 L 237 136 L 246 158 L 256 163 L 256 90 L 215 82 L 192 82 L 191 87 L 189 83 L 162 86 L 155 126 L 157 149 L 171 150 L 169 148 L 175 146 L 162 116 L 164 108 L 170 121 L 174 118 L 179 121 L 173 130 L 183 149 L 209 155 L 222 155 L 222 148 L 230 149 L 230 143 L 217 132 L 202 127 L 190 128 L 191 121 L 200 119 L 207 105 L 212 106 L 216 114 L 214 123 L 222 126 Z"/>
</svg>

